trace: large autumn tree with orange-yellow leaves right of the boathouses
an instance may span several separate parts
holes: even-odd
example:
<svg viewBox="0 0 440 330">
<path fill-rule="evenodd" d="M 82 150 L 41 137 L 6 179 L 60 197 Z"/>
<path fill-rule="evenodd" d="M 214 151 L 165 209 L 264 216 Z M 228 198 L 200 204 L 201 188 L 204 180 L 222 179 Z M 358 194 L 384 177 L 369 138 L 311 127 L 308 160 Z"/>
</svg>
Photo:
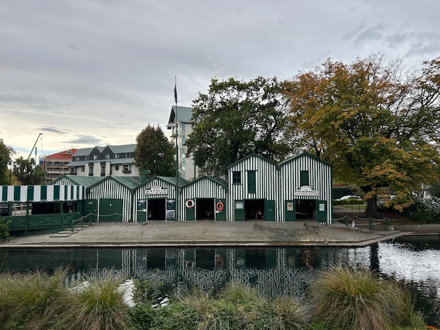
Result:
<svg viewBox="0 0 440 330">
<path fill-rule="evenodd" d="M 380 187 L 397 194 L 401 210 L 438 178 L 439 74 L 439 59 L 410 72 L 373 54 L 349 65 L 327 60 L 285 85 L 295 135 L 335 178 L 364 190 L 368 216 L 377 216 Z"/>
</svg>

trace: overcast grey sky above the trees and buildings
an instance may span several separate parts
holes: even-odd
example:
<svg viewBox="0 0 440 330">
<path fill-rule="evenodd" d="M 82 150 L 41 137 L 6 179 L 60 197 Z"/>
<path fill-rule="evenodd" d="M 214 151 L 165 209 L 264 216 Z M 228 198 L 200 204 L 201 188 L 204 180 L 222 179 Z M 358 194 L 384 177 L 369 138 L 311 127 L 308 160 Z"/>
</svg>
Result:
<svg viewBox="0 0 440 330">
<path fill-rule="evenodd" d="M 164 131 L 213 77 L 288 79 L 371 53 L 440 55 L 439 0 L 0 2 L 0 138 L 27 157 Z"/>
</svg>

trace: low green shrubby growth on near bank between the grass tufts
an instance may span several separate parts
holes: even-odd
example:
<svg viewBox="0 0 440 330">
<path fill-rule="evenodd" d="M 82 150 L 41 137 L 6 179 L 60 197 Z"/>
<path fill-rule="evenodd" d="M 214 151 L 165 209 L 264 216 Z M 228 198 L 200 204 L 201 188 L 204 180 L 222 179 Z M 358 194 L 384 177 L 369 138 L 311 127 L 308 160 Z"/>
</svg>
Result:
<svg viewBox="0 0 440 330">
<path fill-rule="evenodd" d="M 136 330 L 307 329 L 310 312 L 295 298 L 271 301 L 248 286 L 229 283 L 215 297 L 192 288 L 164 307 L 138 305 L 131 317 Z"/>
</svg>

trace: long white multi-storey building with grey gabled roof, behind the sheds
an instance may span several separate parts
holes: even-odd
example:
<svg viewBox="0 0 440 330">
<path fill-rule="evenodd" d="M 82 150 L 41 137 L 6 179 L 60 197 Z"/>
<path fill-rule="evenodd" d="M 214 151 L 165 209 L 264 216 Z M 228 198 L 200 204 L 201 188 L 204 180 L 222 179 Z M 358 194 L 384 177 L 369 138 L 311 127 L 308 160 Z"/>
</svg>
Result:
<svg viewBox="0 0 440 330">
<path fill-rule="evenodd" d="M 67 164 L 71 176 L 138 176 L 131 145 L 107 145 L 79 149 Z"/>
</svg>

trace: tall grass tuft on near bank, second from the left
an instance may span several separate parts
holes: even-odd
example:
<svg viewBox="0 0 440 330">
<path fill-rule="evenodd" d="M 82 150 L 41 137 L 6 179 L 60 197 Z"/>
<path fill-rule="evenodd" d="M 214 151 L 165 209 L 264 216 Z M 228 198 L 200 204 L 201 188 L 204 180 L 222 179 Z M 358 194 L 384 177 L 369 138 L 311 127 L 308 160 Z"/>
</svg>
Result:
<svg viewBox="0 0 440 330">
<path fill-rule="evenodd" d="M 71 289 L 64 308 L 72 312 L 65 315 L 63 324 L 69 329 L 126 329 L 129 311 L 119 288 L 124 279 L 111 270 L 87 277 L 81 286 Z"/>
</svg>

